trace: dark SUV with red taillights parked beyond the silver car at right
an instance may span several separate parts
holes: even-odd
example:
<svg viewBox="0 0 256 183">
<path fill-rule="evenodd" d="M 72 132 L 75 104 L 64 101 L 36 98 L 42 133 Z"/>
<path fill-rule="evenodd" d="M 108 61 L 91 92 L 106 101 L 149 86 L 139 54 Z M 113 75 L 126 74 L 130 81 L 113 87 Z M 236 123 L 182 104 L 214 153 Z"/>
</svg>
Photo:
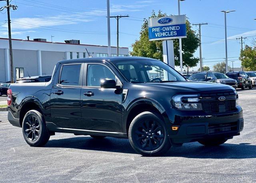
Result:
<svg viewBox="0 0 256 183">
<path fill-rule="evenodd" d="M 247 87 L 252 89 L 252 81 L 244 71 L 228 72 L 226 75 L 237 81 L 238 88 L 241 88 L 242 90 L 245 90 Z"/>
</svg>

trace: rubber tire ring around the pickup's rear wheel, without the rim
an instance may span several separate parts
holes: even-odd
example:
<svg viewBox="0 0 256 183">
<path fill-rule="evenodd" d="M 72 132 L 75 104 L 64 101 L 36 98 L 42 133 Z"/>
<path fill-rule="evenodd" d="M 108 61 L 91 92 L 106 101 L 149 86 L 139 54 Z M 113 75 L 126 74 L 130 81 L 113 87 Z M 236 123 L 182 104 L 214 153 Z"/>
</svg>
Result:
<svg viewBox="0 0 256 183">
<path fill-rule="evenodd" d="M 26 119 L 28 119 L 28 117 L 30 117 L 30 116 L 36 117 L 36 119 L 38 120 L 38 123 L 39 123 L 39 125 L 40 125 L 39 135 L 38 135 L 38 138 L 37 138 L 35 141 L 30 141 L 30 140 L 28 139 L 28 137 L 26 136 L 26 134 L 25 134 Z M 24 137 L 25 141 L 26 141 L 29 145 L 31 145 L 31 146 L 36 146 L 36 145 L 40 142 L 40 139 L 42 138 L 42 133 L 44 133 L 44 129 L 43 129 L 43 123 L 44 123 L 44 121 L 43 121 L 43 120 L 44 120 L 44 119 L 42 119 L 42 118 L 38 115 L 38 113 L 37 113 L 36 111 L 34 111 L 34 110 L 28 111 L 28 112 L 26 113 L 26 115 L 24 116 L 24 119 L 23 119 L 23 122 L 22 122 L 22 134 L 23 134 L 23 137 Z"/>
</svg>

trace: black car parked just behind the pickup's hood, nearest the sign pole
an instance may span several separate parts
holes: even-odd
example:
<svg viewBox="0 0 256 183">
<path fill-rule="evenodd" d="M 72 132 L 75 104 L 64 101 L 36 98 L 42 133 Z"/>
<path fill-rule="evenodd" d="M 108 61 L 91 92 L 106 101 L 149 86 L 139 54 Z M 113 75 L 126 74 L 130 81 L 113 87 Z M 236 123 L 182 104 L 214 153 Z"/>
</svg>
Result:
<svg viewBox="0 0 256 183">
<path fill-rule="evenodd" d="M 192 74 L 188 80 L 198 82 L 217 83 L 217 78 L 212 72 L 196 72 Z"/>
</svg>

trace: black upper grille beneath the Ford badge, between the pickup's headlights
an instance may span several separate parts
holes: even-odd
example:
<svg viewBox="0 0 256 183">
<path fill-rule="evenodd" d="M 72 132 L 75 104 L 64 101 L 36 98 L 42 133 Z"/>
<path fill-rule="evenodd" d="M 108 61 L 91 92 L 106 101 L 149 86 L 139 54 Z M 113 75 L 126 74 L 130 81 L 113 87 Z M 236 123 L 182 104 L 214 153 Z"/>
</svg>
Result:
<svg viewBox="0 0 256 183">
<path fill-rule="evenodd" d="M 203 111 L 206 113 L 229 112 L 236 109 L 236 100 L 205 101 L 202 102 Z"/>
</svg>

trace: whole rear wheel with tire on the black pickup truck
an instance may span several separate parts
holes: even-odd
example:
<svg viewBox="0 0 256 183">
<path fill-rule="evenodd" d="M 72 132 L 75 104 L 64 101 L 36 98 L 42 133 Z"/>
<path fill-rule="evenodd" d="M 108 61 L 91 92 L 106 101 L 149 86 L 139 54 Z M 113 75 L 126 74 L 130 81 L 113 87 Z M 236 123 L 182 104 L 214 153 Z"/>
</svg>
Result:
<svg viewBox="0 0 256 183">
<path fill-rule="evenodd" d="M 44 146 L 50 138 L 44 117 L 36 110 L 30 110 L 24 116 L 22 133 L 26 143 L 33 147 Z"/>
</svg>

